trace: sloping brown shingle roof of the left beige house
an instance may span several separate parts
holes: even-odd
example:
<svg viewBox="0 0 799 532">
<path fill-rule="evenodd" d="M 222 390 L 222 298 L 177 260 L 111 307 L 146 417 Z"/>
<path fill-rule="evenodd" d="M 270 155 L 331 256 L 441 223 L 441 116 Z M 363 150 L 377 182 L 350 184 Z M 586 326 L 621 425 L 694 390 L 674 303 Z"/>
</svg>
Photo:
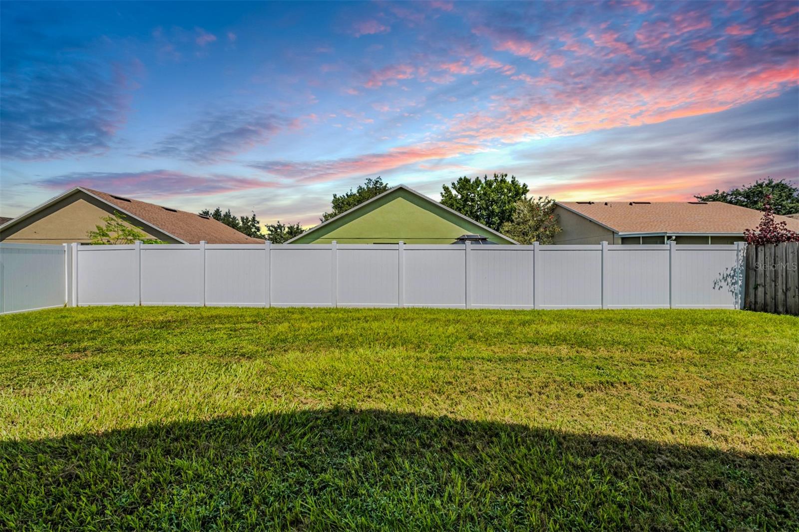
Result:
<svg viewBox="0 0 799 532">
<path fill-rule="evenodd" d="M 145 201 L 133 200 L 99 190 L 81 189 L 99 197 L 122 210 L 133 214 L 150 225 L 177 236 L 189 244 L 263 244 L 264 240 L 252 238 L 213 218 L 204 218 L 193 212 L 178 211 Z"/>
</svg>

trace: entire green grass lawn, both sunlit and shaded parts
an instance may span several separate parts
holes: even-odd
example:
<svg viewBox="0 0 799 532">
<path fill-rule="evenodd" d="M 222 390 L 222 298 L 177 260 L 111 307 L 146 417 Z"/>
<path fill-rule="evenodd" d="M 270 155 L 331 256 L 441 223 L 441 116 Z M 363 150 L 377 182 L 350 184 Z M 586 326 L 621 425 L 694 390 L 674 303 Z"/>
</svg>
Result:
<svg viewBox="0 0 799 532">
<path fill-rule="evenodd" d="M 0 528 L 797 530 L 799 319 L 0 316 Z"/>
</svg>

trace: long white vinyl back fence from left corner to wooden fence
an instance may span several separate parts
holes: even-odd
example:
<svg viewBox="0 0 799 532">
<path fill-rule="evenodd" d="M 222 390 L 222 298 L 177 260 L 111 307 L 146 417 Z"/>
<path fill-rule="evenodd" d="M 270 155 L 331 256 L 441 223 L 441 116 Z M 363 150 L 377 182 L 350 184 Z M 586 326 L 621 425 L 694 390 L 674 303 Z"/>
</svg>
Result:
<svg viewBox="0 0 799 532">
<path fill-rule="evenodd" d="M 71 302 L 741 308 L 739 245 L 169 244 L 72 248 Z"/>
</svg>

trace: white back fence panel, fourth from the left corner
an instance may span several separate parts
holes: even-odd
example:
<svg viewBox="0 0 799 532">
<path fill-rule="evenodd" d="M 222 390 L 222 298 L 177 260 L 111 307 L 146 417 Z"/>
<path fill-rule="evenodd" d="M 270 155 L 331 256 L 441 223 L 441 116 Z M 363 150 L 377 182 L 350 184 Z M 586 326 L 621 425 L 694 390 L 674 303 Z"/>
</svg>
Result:
<svg viewBox="0 0 799 532">
<path fill-rule="evenodd" d="M 332 257 L 329 244 L 272 246 L 272 306 L 332 307 Z"/>
</svg>

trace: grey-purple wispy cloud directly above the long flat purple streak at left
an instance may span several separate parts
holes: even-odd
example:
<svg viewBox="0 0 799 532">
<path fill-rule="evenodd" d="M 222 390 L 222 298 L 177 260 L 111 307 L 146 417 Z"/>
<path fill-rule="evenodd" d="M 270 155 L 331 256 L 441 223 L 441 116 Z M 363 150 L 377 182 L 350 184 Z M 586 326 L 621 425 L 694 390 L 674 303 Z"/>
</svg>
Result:
<svg viewBox="0 0 799 532">
<path fill-rule="evenodd" d="M 288 117 L 256 110 L 217 112 L 158 141 L 141 155 L 210 163 L 266 144 L 275 133 L 298 124 Z"/>
</svg>

